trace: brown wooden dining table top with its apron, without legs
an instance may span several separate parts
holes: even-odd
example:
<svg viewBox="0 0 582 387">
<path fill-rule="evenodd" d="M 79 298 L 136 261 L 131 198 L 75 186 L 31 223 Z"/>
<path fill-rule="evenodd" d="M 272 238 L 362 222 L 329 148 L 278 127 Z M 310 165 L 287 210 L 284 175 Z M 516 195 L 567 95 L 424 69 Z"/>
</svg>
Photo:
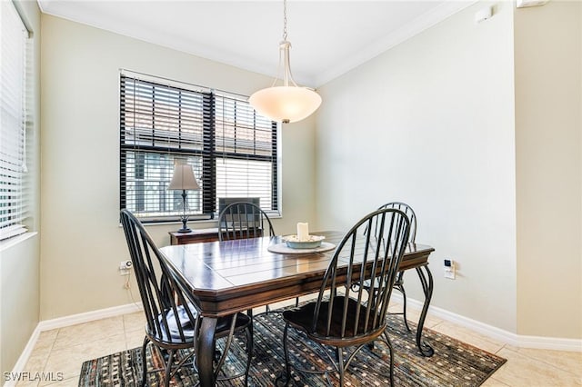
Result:
<svg viewBox="0 0 582 387">
<path fill-rule="evenodd" d="M 337 244 L 344 233 L 322 232 Z M 334 250 L 281 254 L 267 249 L 281 237 L 166 246 L 160 251 L 183 276 L 202 314 L 218 317 L 318 292 Z M 430 246 L 409 243 L 400 265 L 407 270 L 428 263 Z"/>
</svg>

